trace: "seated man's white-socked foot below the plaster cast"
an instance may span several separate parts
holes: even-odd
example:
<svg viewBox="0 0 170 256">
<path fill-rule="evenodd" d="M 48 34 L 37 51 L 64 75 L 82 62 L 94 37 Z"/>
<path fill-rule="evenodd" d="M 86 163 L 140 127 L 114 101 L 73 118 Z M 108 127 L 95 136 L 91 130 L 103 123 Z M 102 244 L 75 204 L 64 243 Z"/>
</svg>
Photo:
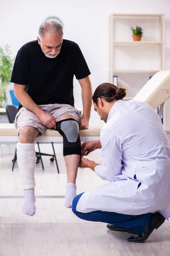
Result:
<svg viewBox="0 0 170 256">
<path fill-rule="evenodd" d="M 35 195 L 34 189 L 24 190 L 25 200 L 23 204 L 23 213 L 33 216 L 35 214 Z"/>
</svg>

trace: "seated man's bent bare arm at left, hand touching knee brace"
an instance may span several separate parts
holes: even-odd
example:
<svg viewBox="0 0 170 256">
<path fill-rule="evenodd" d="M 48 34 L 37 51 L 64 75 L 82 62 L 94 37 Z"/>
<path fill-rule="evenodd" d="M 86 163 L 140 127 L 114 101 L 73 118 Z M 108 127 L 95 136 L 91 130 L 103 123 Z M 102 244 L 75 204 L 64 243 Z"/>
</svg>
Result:
<svg viewBox="0 0 170 256">
<path fill-rule="evenodd" d="M 47 128 L 56 128 L 54 116 L 44 113 L 44 111 L 26 93 L 26 85 L 14 84 L 14 94 L 21 105 L 34 113 L 40 122 Z"/>
</svg>

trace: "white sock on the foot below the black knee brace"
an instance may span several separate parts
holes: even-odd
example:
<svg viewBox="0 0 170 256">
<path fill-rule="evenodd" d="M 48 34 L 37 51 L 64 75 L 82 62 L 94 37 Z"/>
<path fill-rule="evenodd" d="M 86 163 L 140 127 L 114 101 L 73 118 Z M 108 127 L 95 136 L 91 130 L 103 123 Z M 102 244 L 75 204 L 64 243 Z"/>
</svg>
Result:
<svg viewBox="0 0 170 256">
<path fill-rule="evenodd" d="M 76 194 L 76 184 L 67 183 L 65 188 L 65 207 L 71 208 L 73 199 L 77 196 Z"/>
</svg>

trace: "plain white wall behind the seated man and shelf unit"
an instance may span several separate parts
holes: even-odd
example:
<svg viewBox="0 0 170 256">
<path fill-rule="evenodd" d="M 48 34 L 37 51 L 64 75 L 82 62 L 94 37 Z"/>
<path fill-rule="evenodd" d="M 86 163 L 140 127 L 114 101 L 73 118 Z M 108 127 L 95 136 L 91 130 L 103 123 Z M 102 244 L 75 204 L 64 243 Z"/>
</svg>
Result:
<svg viewBox="0 0 170 256">
<path fill-rule="evenodd" d="M 36 39 L 40 24 L 48 16 L 55 15 L 64 24 L 64 38 L 77 42 L 82 49 L 91 70 L 90 77 L 95 90 L 102 82 L 109 81 L 108 41 L 111 13 L 165 14 L 165 67 L 170 69 L 169 3 L 169 0 L 0 0 L 0 45 L 10 44 L 12 55 L 16 55 L 23 44 Z M 147 81 L 142 75 L 131 77 L 133 79 L 136 79 L 136 84 L 139 79 L 143 85 Z M 11 87 L 12 85 L 9 88 Z M 75 106 L 78 108 L 82 107 L 80 95 L 79 84 L 75 81 Z M 91 122 L 98 121 L 96 113 L 92 113 Z"/>
</svg>

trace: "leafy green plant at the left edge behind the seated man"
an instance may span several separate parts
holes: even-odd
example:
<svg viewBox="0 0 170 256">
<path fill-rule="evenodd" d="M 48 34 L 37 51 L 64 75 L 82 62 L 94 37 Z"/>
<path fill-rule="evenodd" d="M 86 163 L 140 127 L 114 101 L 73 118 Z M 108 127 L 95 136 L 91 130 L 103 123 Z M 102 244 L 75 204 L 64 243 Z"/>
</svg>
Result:
<svg viewBox="0 0 170 256">
<path fill-rule="evenodd" d="M 12 67 L 14 64 L 14 59 L 11 58 L 10 46 L 6 45 L 4 49 L 0 47 L 0 108 L 5 106 L 6 89 L 10 83 Z"/>
</svg>

